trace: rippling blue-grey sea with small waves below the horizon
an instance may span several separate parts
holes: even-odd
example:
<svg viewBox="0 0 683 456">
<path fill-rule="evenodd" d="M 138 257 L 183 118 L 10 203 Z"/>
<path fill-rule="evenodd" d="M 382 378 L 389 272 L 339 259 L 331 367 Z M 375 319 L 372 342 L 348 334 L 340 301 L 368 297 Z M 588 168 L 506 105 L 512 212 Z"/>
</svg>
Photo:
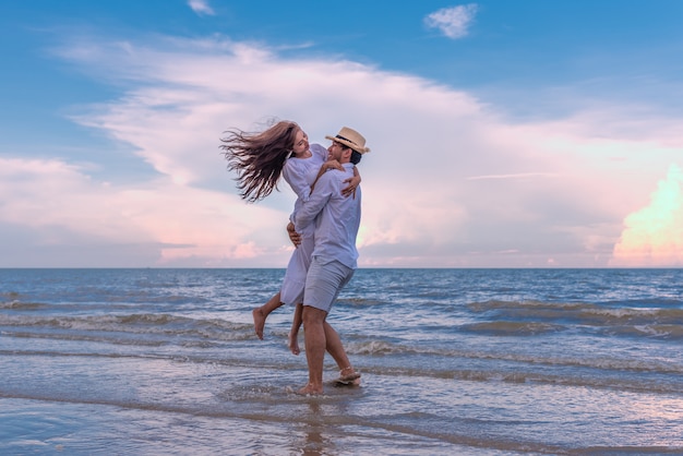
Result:
<svg viewBox="0 0 683 456">
<path fill-rule="evenodd" d="M 0 269 L 0 454 L 683 454 L 683 269 L 360 268 L 321 396 L 284 273 Z"/>
</svg>

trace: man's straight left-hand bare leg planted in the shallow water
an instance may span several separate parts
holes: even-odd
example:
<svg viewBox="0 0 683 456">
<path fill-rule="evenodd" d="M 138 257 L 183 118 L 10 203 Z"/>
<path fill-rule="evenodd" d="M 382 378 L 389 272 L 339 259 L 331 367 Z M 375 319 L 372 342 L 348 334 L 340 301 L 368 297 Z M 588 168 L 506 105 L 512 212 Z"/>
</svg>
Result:
<svg viewBox="0 0 683 456">
<path fill-rule="evenodd" d="M 303 308 L 305 360 L 309 364 L 309 383 L 299 394 L 323 394 L 323 361 L 325 358 L 325 317 L 327 312 L 309 305 Z"/>
</svg>

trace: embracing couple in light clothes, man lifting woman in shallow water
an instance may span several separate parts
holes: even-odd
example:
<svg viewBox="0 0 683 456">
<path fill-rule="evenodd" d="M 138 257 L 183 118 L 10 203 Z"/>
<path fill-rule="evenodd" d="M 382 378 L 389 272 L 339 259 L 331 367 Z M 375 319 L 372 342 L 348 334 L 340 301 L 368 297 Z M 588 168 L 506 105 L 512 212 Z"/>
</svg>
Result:
<svg viewBox="0 0 683 456">
<path fill-rule="evenodd" d="M 238 171 L 241 196 L 250 202 L 267 196 L 281 176 L 297 193 L 287 227 L 297 247 L 280 291 L 254 309 L 254 329 L 263 338 L 268 314 L 283 303 L 296 304 L 289 347 L 299 353 L 297 335 L 303 323 L 309 382 L 300 394 L 323 393 L 325 351 L 340 369 L 339 383 L 358 384 L 336 331 L 326 316 L 357 267 L 356 236 L 360 225 L 360 177 L 356 165 L 370 152 L 364 137 L 343 128 L 326 136 L 332 145 L 309 145 L 295 122 L 277 122 L 262 133 L 230 131 L 221 148 L 229 169 Z"/>
</svg>

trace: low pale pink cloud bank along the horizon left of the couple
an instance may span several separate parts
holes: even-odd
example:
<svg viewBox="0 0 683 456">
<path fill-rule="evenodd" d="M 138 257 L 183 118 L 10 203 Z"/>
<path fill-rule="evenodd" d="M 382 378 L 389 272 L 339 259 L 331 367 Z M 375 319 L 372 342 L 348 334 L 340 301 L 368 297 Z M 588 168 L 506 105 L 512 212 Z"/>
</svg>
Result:
<svg viewBox="0 0 683 456">
<path fill-rule="evenodd" d="M 284 228 L 278 239 L 260 226 L 281 218 L 273 209 L 163 175 L 123 187 L 86 171 L 60 159 L 0 158 L 0 267 L 228 266 L 289 255 Z"/>
</svg>

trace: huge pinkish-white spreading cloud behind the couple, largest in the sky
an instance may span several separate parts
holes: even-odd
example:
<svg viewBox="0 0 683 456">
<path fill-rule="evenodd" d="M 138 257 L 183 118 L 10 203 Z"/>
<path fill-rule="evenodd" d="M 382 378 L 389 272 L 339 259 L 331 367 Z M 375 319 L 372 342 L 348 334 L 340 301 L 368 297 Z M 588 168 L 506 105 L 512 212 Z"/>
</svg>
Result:
<svg viewBox="0 0 683 456">
<path fill-rule="evenodd" d="M 298 121 L 325 145 L 342 125 L 368 139 L 361 266 L 604 266 L 624 214 L 683 143 L 676 119 L 640 120 L 627 137 L 596 131 L 619 124 L 620 107 L 512 122 L 429 80 L 219 37 L 91 37 L 59 56 L 124 87 L 72 118 L 153 173 L 117 182 L 98 163 L 104 151 L 77 165 L 5 159 L 0 233 L 10 238 L 0 265 L 8 267 L 23 261 L 20 250 L 32 252 L 24 257 L 34 266 L 92 265 L 95 252 L 100 266 L 285 266 L 291 191 L 281 183 L 281 192 L 245 204 L 218 148 L 227 129 L 257 130 L 273 116 Z"/>
</svg>

